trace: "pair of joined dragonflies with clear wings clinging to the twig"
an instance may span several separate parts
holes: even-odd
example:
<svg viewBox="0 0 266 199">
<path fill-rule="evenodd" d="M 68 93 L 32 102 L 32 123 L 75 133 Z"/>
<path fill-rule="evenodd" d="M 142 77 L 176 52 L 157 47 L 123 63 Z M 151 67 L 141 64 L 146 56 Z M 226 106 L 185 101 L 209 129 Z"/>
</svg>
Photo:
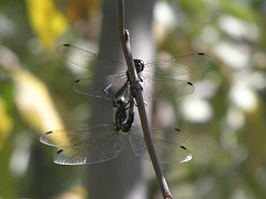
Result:
<svg viewBox="0 0 266 199">
<path fill-rule="evenodd" d="M 81 67 L 86 67 L 88 62 L 94 60 L 98 62 L 98 70 L 104 70 L 104 73 L 112 73 L 112 66 L 114 65 L 123 66 L 124 71 L 104 77 L 75 81 L 73 86 L 75 92 L 112 100 L 115 109 L 114 124 L 45 133 L 40 139 L 43 144 L 62 148 L 54 155 L 54 163 L 60 165 L 90 165 L 115 158 L 123 151 L 123 135 L 125 134 L 130 138 L 134 154 L 142 156 L 144 159 L 150 159 L 142 128 L 133 125 L 135 103 L 126 65 L 70 44 L 60 45 L 57 52 L 66 61 Z M 209 63 L 208 56 L 204 53 L 145 63 L 141 60 L 134 60 L 145 101 L 192 94 L 194 92 L 193 84 L 177 80 L 175 76 L 206 67 Z M 160 72 L 156 73 L 155 71 L 154 76 L 145 72 L 155 67 L 158 67 L 156 70 Z M 145 92 L 151 88 L 153 88 L 153 92 Z M 187 139 L 187 136 L 178 128 L 151 127 L 151 133 L 160 163 L 184 163 L 192 159 L 190 150 L 180 145 Z"/>
</svg>

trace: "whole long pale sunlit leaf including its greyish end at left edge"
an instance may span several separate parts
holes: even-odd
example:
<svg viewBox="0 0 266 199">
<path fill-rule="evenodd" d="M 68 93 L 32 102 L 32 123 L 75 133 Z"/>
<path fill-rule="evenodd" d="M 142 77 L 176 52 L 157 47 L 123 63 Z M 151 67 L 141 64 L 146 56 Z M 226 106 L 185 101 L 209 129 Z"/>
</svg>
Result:
<svg viewBox="0 0 266 199">
<path fill-rule="evenodd" d="M 18 56 L 7 48 L 0 48 L 0 64 L 12 80 L 14 102 L 22 118 L 39 133 L 63 128 L 45 84 L 24 71 Z"/>
</svg>

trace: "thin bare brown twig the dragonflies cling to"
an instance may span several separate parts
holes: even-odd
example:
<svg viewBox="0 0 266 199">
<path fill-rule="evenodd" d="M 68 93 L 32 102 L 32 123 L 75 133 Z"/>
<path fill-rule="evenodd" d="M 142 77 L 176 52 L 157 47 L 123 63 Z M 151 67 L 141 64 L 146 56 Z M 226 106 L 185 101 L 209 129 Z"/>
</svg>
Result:
<svg viewBox="0 0 266 199">
<path fill-rule="evenodd" d="M 139 83 L 137 74 L 134 67 L 134 62 L 131 53 L 131 46 L 130 46 L 130 33 L 127 30 L 124 29 L 124 0 L 117 0 L 117 30 L 119 30 L 119 36 L 120 36 L 120 42 L 123 49 L 123 53 L 125 56 L 126 65 L 127 65 L 127 71 L 130 74 L 130 81 L 132 86 L 135 88 L 136 93 L 136 104 L 139 108 L 139 114 L 141 118 L 141 124 L 142 124 L 142 129 L 144 134 L 144 139 L 147 146 L 149 154 L 151 156 L 151 160 L 160 184 L 160 188 L 163 195 L 164 199 L 172 199 L 172 195 L 170 192 L 167 182 L 164 178 L 162 168 L 160 166 L 156 151 L 152 142 L 152 136 L 151 136 L 151 129 L 149 126 L 149 121 L 147 121 L 147 115 L 146 115 L 146 109 L 143 101 L 143 95 L 142 95 L 142 88 Z"/>
</svg>

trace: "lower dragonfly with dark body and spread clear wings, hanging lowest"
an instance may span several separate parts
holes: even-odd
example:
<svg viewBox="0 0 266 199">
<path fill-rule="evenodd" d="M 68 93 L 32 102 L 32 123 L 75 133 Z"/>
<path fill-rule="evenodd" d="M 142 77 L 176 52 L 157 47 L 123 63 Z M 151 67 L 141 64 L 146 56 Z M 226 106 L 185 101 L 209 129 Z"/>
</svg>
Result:
<svg viewBox="0 0 266 199">
<path fill-rule="evenodd" d="M 125 104 L 123 104 L 123 102 Z M 136 156 L 150 160 L 142 128 L 133 125 L 133 101 L 121 101 L 114 113 L 114 124 L 101 124 L 83 128 L 51 130 L 41 136 L 41 143 L 61 148 L 53 161 L 60 165 L 92 165 L 117 157 L 124 149 L 123 136 L 127 135 Z M 127 104 L 130 107 L 127 107 Z M 151 127 L 153 144 L 161 164 L 185 163 L 192 159 L 190 150 L 180 145 L 187 139 L 178 128 Z M 171 139 L 167 138 L 171 133 Z M 166 136 L 165 136 L 166 135 Z"/>
</svg>

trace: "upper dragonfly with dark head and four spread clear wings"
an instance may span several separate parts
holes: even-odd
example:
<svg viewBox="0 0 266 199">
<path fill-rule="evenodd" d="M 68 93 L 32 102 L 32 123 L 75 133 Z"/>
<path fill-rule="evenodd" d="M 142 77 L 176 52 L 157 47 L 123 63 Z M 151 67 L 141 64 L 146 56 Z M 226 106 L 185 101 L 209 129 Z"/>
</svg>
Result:
<svg viewBox="0 0 266 199">
<path fill-rule="evenodd" d="M 100 56 L 96 53 L 80 49 L 71 44 L 62 44 L 57 48 L 58 54 L 64 60 L 80 66 L 88 67 L 90 61 L 96 61 L 98 70 L 104 71 L 108 76 L 96 76 L 76 80 L 74 91 L 84 95 L 113 100 L 117 91 L 129 83 L 127 67 L 125 63 L 113 59 Z M 207 67 L 211 64 L 209 56 L 205 53 L 194 53 L 184 56 L 168 57 L 143 62 L 134 60 L 136 72 L 144 91 L 145 101 L 156 101 L 184 96 L 194 92 L 191 82 L 177 80 L 176 76 L 190 74 L 196 70 Z M 113 74 L 115 65 L 122 66 L 120 73 Z M 155 74 L 153 75 L 153 69 Z M 130 84 L 126 87 L 130 90 Z M 130 91 L 125 92 L 130 93 Z"/>
</svg>

